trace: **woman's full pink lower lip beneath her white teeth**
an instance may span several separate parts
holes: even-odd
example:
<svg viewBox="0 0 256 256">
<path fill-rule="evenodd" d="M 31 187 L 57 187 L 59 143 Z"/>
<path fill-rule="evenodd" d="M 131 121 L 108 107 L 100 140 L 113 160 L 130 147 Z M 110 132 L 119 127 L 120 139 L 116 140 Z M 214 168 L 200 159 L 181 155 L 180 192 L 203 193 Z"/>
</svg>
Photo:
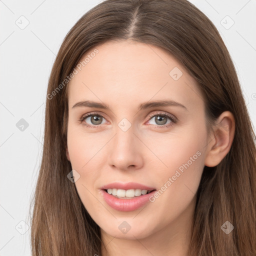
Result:
<svg viewBox="0 0 256 256">
<path fill-rule="evenodd" d="M 106 203 L 111 206 L 113 209 L 120 210 L 120 211 L 132 211 L 140 208 L 147 202 L 149 202 L 149 197 L 156 192 L 156 190 L 151 191 L 148 194 L 143 194 L 140 196 L 135 196 L 132 199 L 120 199 L 112 194 L 107 193 L 105 190 L 102 190 L 103 197 Z"/>
</svg>

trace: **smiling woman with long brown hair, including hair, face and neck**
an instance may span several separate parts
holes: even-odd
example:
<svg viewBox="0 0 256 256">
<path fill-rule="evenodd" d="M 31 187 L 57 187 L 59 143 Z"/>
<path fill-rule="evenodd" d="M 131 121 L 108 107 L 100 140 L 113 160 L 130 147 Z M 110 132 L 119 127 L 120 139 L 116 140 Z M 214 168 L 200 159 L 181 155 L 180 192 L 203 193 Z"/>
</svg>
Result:
<svg viewBox="0 0 256 256">
<path fill-rule="evenodd" d="M 186 0 L 105 0 L 48 83 L 33 255 L 256 255 L 255 134 Z"/>
</svg>

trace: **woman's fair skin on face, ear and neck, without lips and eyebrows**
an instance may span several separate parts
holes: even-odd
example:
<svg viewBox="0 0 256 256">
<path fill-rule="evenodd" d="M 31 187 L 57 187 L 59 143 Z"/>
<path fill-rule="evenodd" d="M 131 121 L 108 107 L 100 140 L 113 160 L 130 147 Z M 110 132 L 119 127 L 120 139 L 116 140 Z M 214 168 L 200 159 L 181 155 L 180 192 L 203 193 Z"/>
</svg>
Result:
<svg viewBox="0 0 256 256">
<path fill-rule="evenodd" d="M 217 165 L 228 153 L 234 136 L 233 115 L 223 112 L 208 134 L 196 81 L 161 48 L 127 40 L 108 41 L 96 48 L 99 52 L 68 84 L 66 156 L 80 175 L 75 182 L 80 199 L 99 225 L 109 255 L 187 255 L 202 170 L 204 165 Z M 178 80 L 169 75 L 174 67 L 183 73 Z M 177 101 L 186 109 L 137 110 L 142 102 L 163 99 Z M 72 108 L 83 100 L 104 102 L 110 110 Z M 103 115 L 96 128 L 83 125 L 97 124 L 90 117 L 79 122 L 90 112 Z M 161 127 L 156 117 L 163 113 L 175 116 L 177 122 L 167 118 L 162 123 L 171 125 Z M 127 131 L 118 126 L 123 118 L 131 124 Z M 112 209 L 100 194 L 100 187 L 113 181 L 161 189 L 197 151 L 200 156 L 154 202 L 137 210 Z M 125 234 L 118 228 L 123 221 L 131 227 Z M 105 255 L 104 246 L 101 253 Z"/>
</svg>

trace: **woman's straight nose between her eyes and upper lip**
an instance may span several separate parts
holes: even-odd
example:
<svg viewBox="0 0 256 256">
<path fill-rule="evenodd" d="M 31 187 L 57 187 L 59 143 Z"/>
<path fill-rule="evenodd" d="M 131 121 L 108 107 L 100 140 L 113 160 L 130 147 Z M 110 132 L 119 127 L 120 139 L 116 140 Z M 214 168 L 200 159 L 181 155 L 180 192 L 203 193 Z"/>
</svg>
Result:
<svg viewBox="0 0 256 256">
<path fill-rule="evenodd" d="M 142 143 L 132 126 L 126 131 L 117 127 L 109 145 L 108 164 L 118 170 L 135 170 L 143 166 Z"/>
</svg>

